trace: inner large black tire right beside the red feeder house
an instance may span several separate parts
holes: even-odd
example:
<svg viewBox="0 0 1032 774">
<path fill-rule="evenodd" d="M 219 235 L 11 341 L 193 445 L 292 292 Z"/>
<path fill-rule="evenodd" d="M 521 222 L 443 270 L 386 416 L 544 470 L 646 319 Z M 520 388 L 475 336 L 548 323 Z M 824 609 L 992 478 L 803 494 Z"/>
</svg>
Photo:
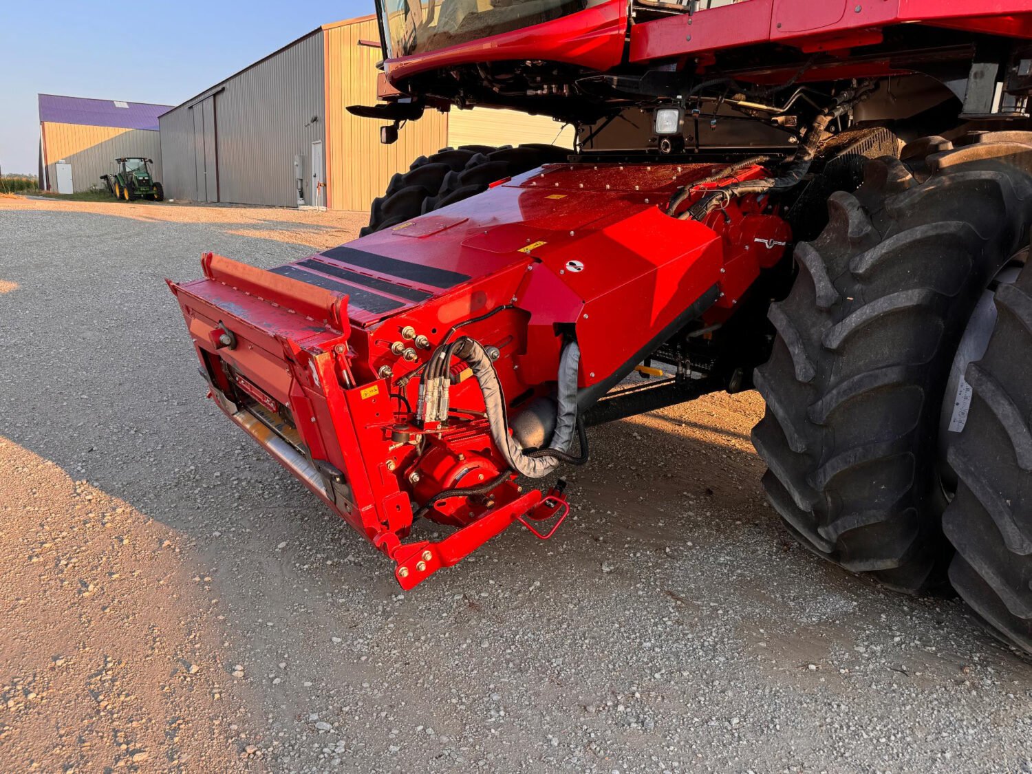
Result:
<svg viewBox="0 0 1032 774">
<path fill-rule="evenodd" d="M 752 431 L 768 496 L 804 546 L 900 591 L 945 584 L 943 397 L 972 311 L 1027 238 L 1025 142 L 932 137 L 870 162 L 770 308 Z"/>
</svg>

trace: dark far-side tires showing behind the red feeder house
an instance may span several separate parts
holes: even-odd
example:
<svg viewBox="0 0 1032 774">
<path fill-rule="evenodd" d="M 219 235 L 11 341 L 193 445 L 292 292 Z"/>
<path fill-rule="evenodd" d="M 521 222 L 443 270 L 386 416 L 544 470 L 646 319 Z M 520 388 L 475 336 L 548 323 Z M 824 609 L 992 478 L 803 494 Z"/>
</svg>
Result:
<svg viewBox="0 0 1032 774">
<path fill-rule="evenodd" d="M 391 178 L 387 192 L 374 199 L 369 225 L 361 236 L 486 191 L 495 181 L 565 161 L 570 151 L 555 146 L 461 146 L 420 156 L 407 172 Z"/>
</svg>

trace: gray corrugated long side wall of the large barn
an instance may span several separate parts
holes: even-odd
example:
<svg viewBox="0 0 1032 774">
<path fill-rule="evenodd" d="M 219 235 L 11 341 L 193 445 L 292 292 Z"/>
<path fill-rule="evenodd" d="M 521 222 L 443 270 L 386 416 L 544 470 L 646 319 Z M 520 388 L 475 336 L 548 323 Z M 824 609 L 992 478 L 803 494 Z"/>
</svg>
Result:
<svg viewBox="0 0 1032 774">
<path fill-rule="evenodd" d="M 212 166 L 211 130 L 206 160 L 198 159 L 194 106 L 213 99 L 218 201 L 296 206 L 294 157 L 301 158 L 304 200 L 312 202 L 312 142 L 325 147 L 325 62 L 317 30 L 227 80 L 205 90 L 159 119 L 165 195 L 198 199 L 198 168 Z M 315 117 L 317 120 L 312 121 Z M 201 161 L 198 164 L 198 161 Z M 207 198 L 215 200 L 207 186 Z"/>
</svg>

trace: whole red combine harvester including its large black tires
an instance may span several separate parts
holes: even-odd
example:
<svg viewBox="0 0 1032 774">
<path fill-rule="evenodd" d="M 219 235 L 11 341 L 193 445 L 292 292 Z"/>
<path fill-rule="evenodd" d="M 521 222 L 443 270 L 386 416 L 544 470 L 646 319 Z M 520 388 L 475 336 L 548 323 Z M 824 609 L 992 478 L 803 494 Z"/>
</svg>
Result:
<svg viewBox="0 0 1032 774">
<path fill-rule="evenodd" d="M 349 109 L 384 142 L 489 105 L 574 147 L 442 150 L 360 238 L 170 286 L 211 396 L 402 587 L 514 522 L 548 538 L 586 427 L 755 387 L 803 545 L 902 591 L 952 581 L 1032 650 L 1030 0 L 379 15 L 382 101 Z"/>
</svg>

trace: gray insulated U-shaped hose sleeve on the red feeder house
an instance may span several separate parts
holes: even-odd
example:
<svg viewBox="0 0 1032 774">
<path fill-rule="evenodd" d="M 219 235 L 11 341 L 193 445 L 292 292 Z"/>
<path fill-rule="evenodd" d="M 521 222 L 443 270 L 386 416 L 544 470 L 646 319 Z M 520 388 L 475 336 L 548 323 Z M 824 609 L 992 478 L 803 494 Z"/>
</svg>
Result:
<svg viewBox="0 0 1032 774">
<path fill-rule="evenodd" d="M 506 398 L 498 383 L 498 375 L 494 370 L 491 358 L 479 342 L 472 338 L 462 340 L 456 349 L 456 355 L 469 363 L 473 375 L 480 384 L 484 395 L 484 407 L 487 409 L 487 420 L 491 427 L 491 438 L 494 445 L 502 451 L 510 466 L 522 476 L 540 479 L 554 471 L 559 461 L 552 457 L 533 459 L 523 453 L 516 440 L 509 434 L 509 420 L 506 412 Z M 559 356 L 558 375 L 558 412 L 555 420 L 555 430 L 552 432 L 550 449 L 561 452 L 570 450 L 574 436 L 577 432 L 577 370 L 580 366 L 580 347 L 572 342 L 562 350 Z"/>
</svg>

